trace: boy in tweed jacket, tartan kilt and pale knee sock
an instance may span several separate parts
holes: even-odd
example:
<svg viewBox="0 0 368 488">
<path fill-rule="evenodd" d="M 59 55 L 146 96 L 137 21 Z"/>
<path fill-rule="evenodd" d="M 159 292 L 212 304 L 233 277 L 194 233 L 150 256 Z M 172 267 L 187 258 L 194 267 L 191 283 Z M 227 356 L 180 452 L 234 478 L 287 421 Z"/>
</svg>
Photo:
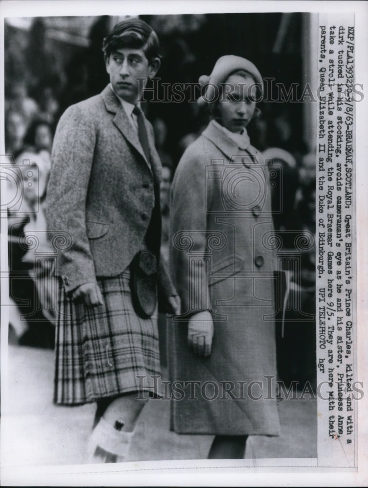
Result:
<svg viewBox="0 0 368 488">
<path fill-rule="evenodd" d="M 55 244 L 68 233 L 58 245 L 54 401 L 97 402 L 92 462 L 125 459 L 142 389 L 161 395 L 151 379 L 160 375 L 158 309 L 179 313 L 160 257 L 161 163 L 139 102 L 158 50 L 142 20 L 117 24 L 103 41 L 110 83 L 64 112 L 53 144 L 47 224 Z"/>
</svg>

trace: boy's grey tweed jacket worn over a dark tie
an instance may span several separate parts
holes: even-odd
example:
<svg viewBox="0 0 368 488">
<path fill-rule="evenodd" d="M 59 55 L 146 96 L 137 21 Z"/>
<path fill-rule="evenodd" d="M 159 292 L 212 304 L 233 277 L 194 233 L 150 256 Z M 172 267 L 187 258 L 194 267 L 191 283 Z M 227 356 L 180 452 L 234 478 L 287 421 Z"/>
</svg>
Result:
<svg viewBox="0 0 368 488">
<path fill-rule="evenodd" d="M 109 85 L 61 116 L 46 219 L 55 235 L 66 232 L 65 242 L 58 245 L 57 265 L 66 292 L 97 277 L 120 274 L 142 248 L 161 181 L 153 129 L 147 120 L 145 124 L 150 162 Z M 156 218 L 159 249 L 161 216 Z M 168 295 L 175 294 L 170 283 L 164 287 Z"/>
</svg>

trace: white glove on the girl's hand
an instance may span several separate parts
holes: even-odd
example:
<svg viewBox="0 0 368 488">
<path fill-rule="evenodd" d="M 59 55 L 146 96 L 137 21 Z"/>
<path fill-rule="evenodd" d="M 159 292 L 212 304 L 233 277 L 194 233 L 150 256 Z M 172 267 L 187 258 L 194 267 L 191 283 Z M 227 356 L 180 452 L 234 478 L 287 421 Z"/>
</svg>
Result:
<svg viewBox="0 0 368 488">
<path fill-rule="evenodd" d="M 192 315 L 188 322 L 188 346 L 200 356 L 211 354 L 213 320 L 208 310 Z"/>
</svg>

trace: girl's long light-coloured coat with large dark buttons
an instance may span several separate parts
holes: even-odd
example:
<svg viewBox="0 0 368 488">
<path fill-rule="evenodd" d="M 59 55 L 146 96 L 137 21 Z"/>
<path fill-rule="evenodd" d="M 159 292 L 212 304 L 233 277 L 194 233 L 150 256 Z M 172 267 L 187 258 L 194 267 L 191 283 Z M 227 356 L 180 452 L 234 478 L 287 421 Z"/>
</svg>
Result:
<svg viewBox="0 0 368 488">
<path fill-rule="evenodd" d="M 188 400 L 187 389 L 184 399 L 172 402 L 172 427 L 179 433 L 278 435 L 276 401 L 252 400 L 246 390 L 258 381 L 261 393 L 272 391 L 275 398 L 276 256 L 268 168 L 254 147 L 240 149 L 210 122 L 185 151 L 171 197 L 170 265 L 183 316 L 168 324 L 170 380 L 210 382 L 197 388 L 197 401 Z M 214 319 L 208 358 L 187 346 L 187 319 L 201 310 Z M 265 376 L 273 376 L 271 390 Z M 235 385 L 237 398 L 243 396 L 238 382 L 245 382 L 247 399 L 225 394 L 220 400 L 226 382 Z M 216 389 L 217 397 L 208 400 Z M 260 395 L 258 386 L 252 394 Z"/>
</svg>

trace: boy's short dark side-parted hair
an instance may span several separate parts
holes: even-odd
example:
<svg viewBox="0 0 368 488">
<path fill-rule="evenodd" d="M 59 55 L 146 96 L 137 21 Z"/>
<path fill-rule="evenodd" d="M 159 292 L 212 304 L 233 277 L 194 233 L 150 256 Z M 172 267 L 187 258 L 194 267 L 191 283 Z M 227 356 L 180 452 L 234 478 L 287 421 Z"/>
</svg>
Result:
<svg viewBox="0 0 368 488">
<path fill-rule="evenodd" d="M 125 19 L 103 39 L 102 51 L 105 58 L 119 48 L 143 49 L 149 62 L 159 57 L 160 44 L 156 32 L 144 20 Z"/>
</svg>

